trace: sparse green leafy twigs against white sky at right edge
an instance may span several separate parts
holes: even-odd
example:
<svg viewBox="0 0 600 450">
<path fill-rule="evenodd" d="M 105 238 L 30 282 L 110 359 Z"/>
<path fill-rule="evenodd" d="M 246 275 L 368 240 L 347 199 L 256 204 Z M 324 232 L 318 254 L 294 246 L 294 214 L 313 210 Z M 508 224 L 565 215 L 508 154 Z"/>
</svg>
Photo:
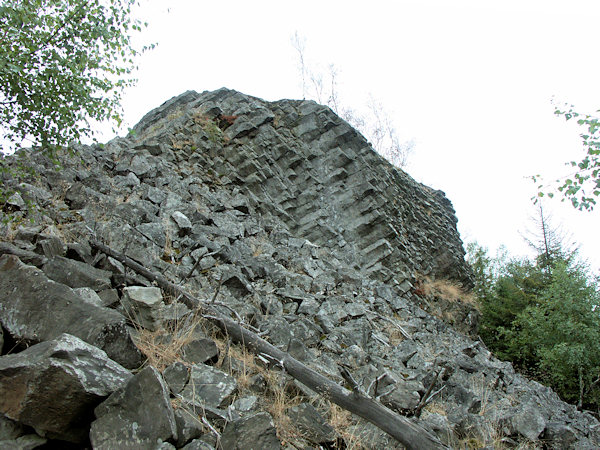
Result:
<svg viewBox="0 0 600 450">
<path fill-rule="evenodd" d="M 576 119 L 577 124 L 583 128 L 580 137 L 585 155 L 581 161 L 567 163 L 575 169 L 575 172 L 557 180 L 558 185 L 554 190 L 544 192 L 546 187 L 539 185 L 538 198 L 545 195 L 553 197 L 558 191 L 562 194 L 563 200 L 571 201 L 574 208 L 591 211 L 600 196 L 600 118 L 591 114 L 578 113 L 572 105 L 565 110 L 556 108 L 554 113 L 563 116 L 567 121 Z M 538 182 L 540 176 L 532 178 L 534 182 Z"/>
</svg>

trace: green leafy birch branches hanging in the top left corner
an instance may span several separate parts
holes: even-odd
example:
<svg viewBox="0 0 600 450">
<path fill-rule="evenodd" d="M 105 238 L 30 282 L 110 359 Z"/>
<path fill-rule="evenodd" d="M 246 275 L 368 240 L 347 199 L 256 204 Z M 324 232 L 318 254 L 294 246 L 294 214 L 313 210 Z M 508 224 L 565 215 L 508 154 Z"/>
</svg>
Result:
<svg viewBox="0 0 600 450">
<path fill-rule="evenodd" d="M 52 148 L 91 136 L 90 120 L 120 123 L 135 80 L 135 0 L 3 0 L 0 4 L 2 151 Z"/>
</svg>

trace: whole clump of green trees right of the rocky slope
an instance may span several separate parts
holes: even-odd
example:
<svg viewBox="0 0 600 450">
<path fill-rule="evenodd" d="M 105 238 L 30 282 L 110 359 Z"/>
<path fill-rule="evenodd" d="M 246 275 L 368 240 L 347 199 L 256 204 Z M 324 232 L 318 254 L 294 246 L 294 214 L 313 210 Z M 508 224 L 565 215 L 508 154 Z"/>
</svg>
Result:
<svg viewBox="0 0 600 450">
<path fill-rule="evenodd" d="M 600 289 L 577 250 L 553 234 L 540 210 L 534 258 L 497 259 L 471 244 L 481 303 L 480 336 L 527 375 L 579 408 L 600 407 Z"/>
</svg>

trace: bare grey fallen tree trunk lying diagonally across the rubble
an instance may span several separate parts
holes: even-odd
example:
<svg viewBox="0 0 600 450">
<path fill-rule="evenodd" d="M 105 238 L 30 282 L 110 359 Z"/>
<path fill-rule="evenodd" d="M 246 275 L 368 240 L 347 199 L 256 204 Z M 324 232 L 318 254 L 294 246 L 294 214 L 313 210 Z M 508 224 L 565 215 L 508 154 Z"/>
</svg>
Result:
<svg viewBox="0 0 600 450">
<path fill-rule="evenodd" d="M 171 283 L 162 275 L 146 269 L 131 258 L 112 250 L 110 247 L 107 247 L 100 242 L 91 241 L 90 244 L 92 247 L 112 256 L 140 275 L 149 280 L 156 281 L 165 291 L 176 293 L 188 307 L 194 309 L 202 308 L 203 311 L 210 314 L 211 317 L 207 318 L 216 323 L 235 342 L 240 343 L 257 355 L 267 356 L 285 369 L 286 373 L 296 380 L 331 402 L 371 422 L 373 425 L 398 440 L 406 448 L 415 450 L 448 449 L 447 446 L 424 428 L 391 411 L 381 403 L 360 392 L 358 389 L 350 391 L 329 380 L 320 373 L 315 372 L 288 353 L 268 343 L 256 333 L 244 328 L 241 324 L 223 315 L 210 304 L 201 302 L 197 298 L 187 294 L 183 289 L 174 283 Z"/>
</svg>

